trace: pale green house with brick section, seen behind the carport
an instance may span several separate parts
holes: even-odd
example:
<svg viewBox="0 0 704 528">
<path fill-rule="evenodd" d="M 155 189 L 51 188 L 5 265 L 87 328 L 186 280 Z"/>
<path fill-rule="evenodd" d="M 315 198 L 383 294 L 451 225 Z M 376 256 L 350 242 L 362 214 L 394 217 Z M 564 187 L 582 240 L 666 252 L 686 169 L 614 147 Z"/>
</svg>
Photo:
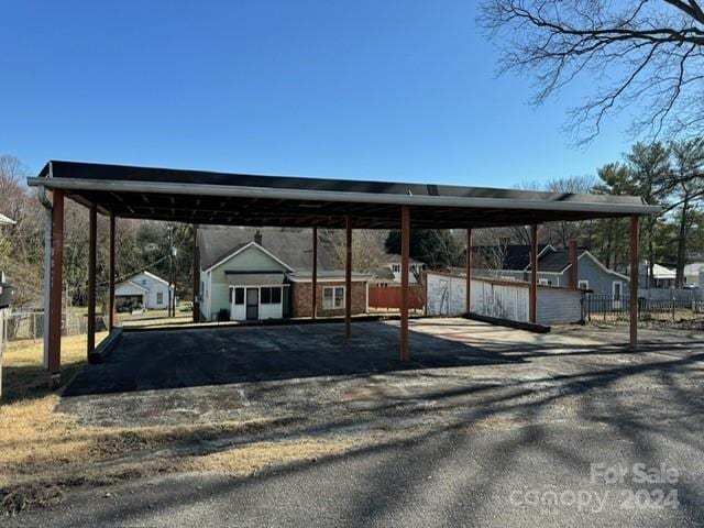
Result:
<svg viewBox="0 0 704 528">
<path fill-rule="evenodd" d="M 310 317 L 310 230 L 200 228 L 198 251 L 205 320 Z M 344 315 L 346 295 L 352 296 L 352 314 L 365 314 L 371 276 L 353 273 L 352 290 L 346 292 L 344 271 L 331 264 L 327 249 L 318 244 L 318 316 Z"/>
</svg>

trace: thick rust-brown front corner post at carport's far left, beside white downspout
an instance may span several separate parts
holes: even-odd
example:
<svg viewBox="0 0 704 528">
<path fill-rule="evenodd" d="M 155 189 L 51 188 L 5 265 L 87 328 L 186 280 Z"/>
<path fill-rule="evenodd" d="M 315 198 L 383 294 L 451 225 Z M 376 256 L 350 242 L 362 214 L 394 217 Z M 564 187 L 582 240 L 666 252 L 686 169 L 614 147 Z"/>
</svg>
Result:
<svg viewBox="0 0 704 528">
<path fill-rule="evenodd" d="M 52 273 L 50 285 L 48 372 L 50 388 L 61 384 L 62 369 L 62 286 L 64 264 L 64 191 L 53 191 Z"/>
</svg>

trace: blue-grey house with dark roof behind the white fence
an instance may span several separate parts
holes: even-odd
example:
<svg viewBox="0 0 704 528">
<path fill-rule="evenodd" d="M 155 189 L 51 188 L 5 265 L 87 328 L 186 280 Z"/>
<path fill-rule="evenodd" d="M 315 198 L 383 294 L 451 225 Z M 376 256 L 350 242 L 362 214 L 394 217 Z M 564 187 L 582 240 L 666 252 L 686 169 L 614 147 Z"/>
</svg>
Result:
<svg viewBox="0 0 704 528">
<path fill-rule="evenodd" d="M 494 258 L 502 266 L 494 270 L 480 267 L 474 272 L 476 276 L 491 276 L 503 280 L 527 282 L 530 279 L 529 245 L 507 245 L 496 249 L 479 246 L 473 248 L 472 251 L 473 261 L 475 257 L 479 262 L 488 262 Z M 491 256 L 492 253 L 503 256 Z M 557 250 L 550 244 L 538 246 L 538 284 L 569 287 L 571 266 L 569 250 Z M 584 248 L 578 250 L 578 287 L 580 289 L 622 297 L 628 293 L 628 283 L 626 275 L 608 270 Z"/>
</svg>

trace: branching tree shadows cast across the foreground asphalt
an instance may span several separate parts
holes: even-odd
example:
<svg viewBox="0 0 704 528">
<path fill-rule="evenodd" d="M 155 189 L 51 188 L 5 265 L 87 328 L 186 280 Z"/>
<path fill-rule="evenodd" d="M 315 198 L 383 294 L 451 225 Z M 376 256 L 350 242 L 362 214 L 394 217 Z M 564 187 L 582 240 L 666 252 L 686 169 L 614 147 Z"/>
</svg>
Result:
<svg viewBox="0 0 704 528">
<path fill-rule="evenodd" d="M 516 392 L 509 394 L 496 394 L 490 396 L 490 399 L 483 402 L 484 415 L 496 416 L 506 411 L 515 411 L 526 419 L 526 427 L 516 429 L 514 433 L 497 436 L 492 442 L 481 442 L 479 435 L 469 435 L 465 430 L 465 424 L 455 426 L 441 426 L 430 431 L 422 432 L 411 439 L 395 440 L 389 437 L 388 441 L 382 444 L 365 446 L 355 449 L 343 455 L 324 457 L 315 461 L 304 461 L 290 464 L 284 469 L 276 469 L 271 472 L 263 472 L 255 477 L 238 479 L 238 480 L 220 480 L 197 490 L 188 486 L 174 486 L 173 491 L 161 497 L 156 504 L 138 503 L 135 501 L 123 501 L 116 508 L 111 509 L 106 516 L 91 517 L 90 522 L 109 521 L 120 519 L 123 521 L 136 522 L 142 521 L 156 512 L 168 512 L 170 508 L 202 502 L 210 502 L 216 497 L 234 496 L 235 493 L 243 493 L 249 486 L 261 486 L 262 490 L 273 480 L 286 479 L 299 472 L 310 471 L 315 475 L 315 471 L 324 469 L 330 464 L 336 464 L 340 459 L 345 460 L 344 469 L 340 471 L 354 471 L 348 475 L 351 480 L 361 482 L 353 492 L 348 493 L 344 490 L 344 497 L 341 499 L 337 514 L 341 519 L 346 519 L 340 526 L 361 526 L 373 525 L 374 519 L 384 518 L 385 515 L 393 512 L 397 504 L 403 502 L 405 496 L 413 496 L 414 493 L 422 493 L 428 486 L 431 476 L 438 470 L 443 470 L 447 464 L 454 464 L 458 458 L 462 458 L 465 453 L 473 453 L 481 448 L 481 461 L 474 459 L 463 459 L 463 463 L 468 466 L 479 466 L 486 471 L 492 468 L 493 471 L 490 479 L 480 479 L 468 472 L 466 480 L 457 483 L 453 490 L 443 493 L 447 495 L 447 518 L 442 519 L 450 525 L 457 524 L 458 517 L 463 520 L 466 526 L 476 525 L 482 517 L 484 505 L 476 497 L 491 496 L 495 490 L 501 490 L 502 481 L 506 482 L 516 476 L 516 468 L 520 461 L 525 459 L 527 452 L 534 457 L 543 455 L 554 464 L 569 469 L 572 473 L 582 475 L 584 480 L 588 475 L 590 463 L 602 462 L 606 459 L 590 458 L 595 453 L 584 450 L 584 442 L 561 442 L 559 437 L 551 433 L 549 428 L 540 424 L 539 415 L 553 405 L 556 402 L 568 397 L 586 396 L 598 391 L 613 388 L 617 383 L 634 378 L 635 376 L 656 376 L 663 383 L 663 387 L 671 392 L 672 405 L 682 407 L 682 410 L 691 413 L 689 419 L 693 420 L 691 426 L 701 430 L 702 426 L 702 399 L 698 385 L 693 388 L 693 394 L 682 392 L 682 388 L 675 383 L 678 375 L 686 375 L 693 367 L 696 367 L 704 360 L 704 354 L 697 353 L 689 358 L 679 360 L 664 360 L 648 364 L 615 366 L 608 370 L 581 372 L 579 374 L 551 376 L 551 381 L 559 381 L 562 384 L 562 391 L 559 393 L 544 392 L 535 399 L 526 399 L 525 395 L 532 392 L 530 388 L 522 387 L 524 382 L 515 382 Z M 534 383 L 535 380 L 531 380 Z M 447 395 L 446 395 L 447 396 Z M 452 395 L 454 396 L 454 395 Z M 436 395 L 436 397 L 442 397 Z M 594 427 L 594 431 L 590 437 L 592 440 L 603 435 L 598 425 L 604 422 L 612 427 L 612 440 L 626 441 L 630 448 L 629 457 L 638 462 L 645 462 L 656 466 L 662 455 L 658 446 L 653 444 L 657 436 L 667 435 L 670 439 L 678 439 L 681 442 L 691 443 L 692 437 L 683 435 L 681 428 L 672 428 L 671 426 L 652 421 L 644 416 L 644 409 L 639 405 L 634 405 L 629 399 L 631 395 L 620 394 L 619 392 L 610 393 L 607 397 L 608 406 L 605 402 L 601 402 L 601 406 L 594 405 L 594 397 L 580 398 L 579 416 L 583 425 Z M 491 407 L 487 405 L 492 404 Z M 462 404 L 464 405 L 464 404 Z M 653 403 L 654 405 L 654 403 Z M 605 414 L 605 410 L 610 409 Z M 652 410 L 652 409 L 648 409 Z M 330 427 L 340 427 L 342 424 L 332 420 Z M 681 426 L 681 424 L 679 424 Z M 299 435 L 301 431 L 295 431 L 292 435 Z M 694 432 L 694 431 L 693 431 Z M 584 435 L 584 432 L 575 432 L 575 435 Z M 680 438 L 681 437 L 681 438 Z M 356 460 L 363 461 L 367 457 L 376 457 L 375 463 L 355 464 Z M 630 459 L 629 459 L 630 460 Z M 413 461 L 413 465 L 411 464 Z M 400 463 L 404 462 L 404 463 Z M 398 485 L 399 471 L 398 468 L 406 468 L 405 480 L 403 486 Z M 408 469 L 410 466 L 410 469 Z M 403 475 L 400 475 L 403 476 Z M 315 481 L 315 479 L 312 479 Z M 292 481 L 296 482 L 296 481 Z M 536 479 L 536 486 L 540 481 Z M 570 485 L 570 481 L 557 483 L 564 486 Z M 569 487 L 565 487 L 569 490 Z M 561 490 L 561 488 L 559 488 Z M 701 519 L 702 512 L 701 490 L 694 483 L 681 482 L 678 484 L 681 492 L 681 501 L 684 507 L 691 513 L 694 519 Z M 332 493 L 332 492 L 330 492 Z M 471 508 L 464 508 L 463 505 L 472 502 Z M 242 519 L 251 518 L 255 515 L 256 503 L 251 504 L 244 502 L 239 505 L 238 515 Z M 507 503 L 507 507 L 510 505 Z M 108 517 L 109 516 L 109 517 Z M 696 520 L 695 520 L 696 521 Z M 91 524 L 76 524 L 75 526 L 92 526 Z"/>
</svg>

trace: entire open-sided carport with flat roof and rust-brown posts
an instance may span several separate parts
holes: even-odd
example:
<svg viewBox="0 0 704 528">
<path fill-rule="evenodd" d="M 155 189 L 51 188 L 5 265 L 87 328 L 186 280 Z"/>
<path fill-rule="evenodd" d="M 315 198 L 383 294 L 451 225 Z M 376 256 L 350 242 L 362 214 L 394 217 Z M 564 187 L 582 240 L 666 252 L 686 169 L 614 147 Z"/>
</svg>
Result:
<svg viewBox="0 0 704 528">
<path fill-rule="evenodd" d="M 400 229 L 402 307 L 400 361 L 408 350 L 408 258 L 410 229 L 461 229 L 466 245 L 477 228 L 530 226 L 531 280 L 530 320 L 537 311 L 538 226 L 556 221 L 600 218 L 630 218 L 630 267 L 638 268 L 639 216 L 660 209 L 634 196 L 574 195 L 526 190 L 257 176 L 172 168 L 52 161 L 29 185 L 40 188 L 51 223 L 51 257 L 45 274 L 46 312 L 45 366 L 52 385 L 61 380 L 62 261 L 64 200 L 73 199 L 89 209 L 90 251 L 88 266 L 88 353 L 95 348 L 96 231 L 97 215 L 110 218 L 110 328 L 114 326 L 114 228 L 119 218 L 164 220 L 198 224 L 312 228 L 314 271 L 317 280 L 318 228 L 345 230 L 345 284 L 350 290 L 353 229 Z M 51 198 L 47 190 L 51 191 Z M 197 255 L 197 252 L 196 252 Z M 470 307 L 471 251 L 466 252 L 466 306 Z M 199 282 L 194 280 L 198 293 Z M 630 284 L 630 346 L 637 346 L 638 276 Z M 576 287 L 575 280 L 572 287 Z M 312 317 L 316 296 L 312 297 Z M 194 314 L 198 308 L 194 306 Z M 469 311 L 469 310 L 468 310 Z M 351 336 L 351 297 L 345 296 L 345 334 Z"/>
</svg>

